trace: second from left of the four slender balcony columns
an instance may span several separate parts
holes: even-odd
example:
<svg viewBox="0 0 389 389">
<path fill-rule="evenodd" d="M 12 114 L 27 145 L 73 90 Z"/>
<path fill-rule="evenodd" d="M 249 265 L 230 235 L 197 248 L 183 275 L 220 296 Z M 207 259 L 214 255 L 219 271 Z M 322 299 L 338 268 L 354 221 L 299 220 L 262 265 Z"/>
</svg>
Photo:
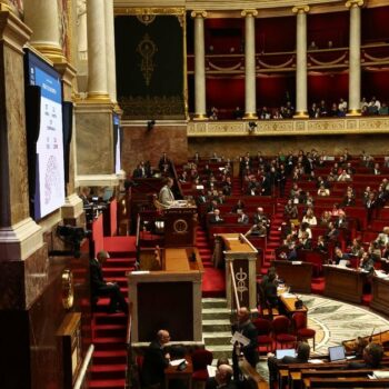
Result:
<svg viewBox="0 0 389 389">
<path fill-rule="evenodd" d="M 245 119 L 257 119 L 256 99 L 256 16 L 257 10 L 245 10 Z"/>
</svg>

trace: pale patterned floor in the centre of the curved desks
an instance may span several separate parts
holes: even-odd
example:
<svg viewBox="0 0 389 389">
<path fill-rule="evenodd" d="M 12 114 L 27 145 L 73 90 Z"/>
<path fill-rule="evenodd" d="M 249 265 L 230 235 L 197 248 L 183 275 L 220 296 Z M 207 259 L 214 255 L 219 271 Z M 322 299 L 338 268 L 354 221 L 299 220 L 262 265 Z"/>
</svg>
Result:
<svg viewBox="0 0 389 389">
<path fill-rule="evenodd" d="M 389 330 L 389 320 L 366 307 L 312 295 L 299 297 L 309 310 L 308 327 L 316 330 L 315 353 L 317 355 L 328 353 L 328 347 L 340 345 L 343 340 Z M 311 341 L 310 345 L 312 345 Z M 265 378 L 268 377 L 265 360 L 258 363 L 257 370 Z"/>
</svg>

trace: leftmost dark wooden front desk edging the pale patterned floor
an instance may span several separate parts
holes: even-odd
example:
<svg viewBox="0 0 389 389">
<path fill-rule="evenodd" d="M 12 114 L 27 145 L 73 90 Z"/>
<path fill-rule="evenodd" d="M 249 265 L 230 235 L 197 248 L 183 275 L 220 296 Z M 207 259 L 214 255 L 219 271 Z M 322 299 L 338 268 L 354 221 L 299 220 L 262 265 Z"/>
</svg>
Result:
<svg viewBox="0 0 389 389">
<path fill-rule="evenodd" d="M 292 261 L 271 261 L 280 279 L 290 287 L 292 292 L 310 293 L 312 263 Z"/>
</svg>

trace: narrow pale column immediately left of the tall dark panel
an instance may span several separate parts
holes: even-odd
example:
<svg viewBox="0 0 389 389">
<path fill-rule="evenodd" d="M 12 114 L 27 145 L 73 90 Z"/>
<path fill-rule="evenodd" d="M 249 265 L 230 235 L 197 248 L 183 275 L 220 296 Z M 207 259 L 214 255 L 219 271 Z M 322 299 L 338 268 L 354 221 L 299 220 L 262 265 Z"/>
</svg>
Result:
<svg viewBox="0 0 389 389">
<path fill-rule="evenodd" d="M 106 0 L 106 52 L 107 52 L 107 88 L 113 103 L 117 102 L 117 69 L 114 53 L 113 0 Z"/>
</svg>

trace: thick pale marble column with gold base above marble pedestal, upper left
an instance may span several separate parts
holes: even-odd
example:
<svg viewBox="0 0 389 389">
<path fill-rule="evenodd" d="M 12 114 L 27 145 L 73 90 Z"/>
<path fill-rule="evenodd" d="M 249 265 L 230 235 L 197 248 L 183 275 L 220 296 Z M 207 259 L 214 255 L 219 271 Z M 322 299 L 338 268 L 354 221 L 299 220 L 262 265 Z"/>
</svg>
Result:
<svg viewBox="0 0 389 389">
<path fill-rule="evenodd" d="M 108 101 L 104 0 L 87 0 L 88 99 Z"/>
</svg>

